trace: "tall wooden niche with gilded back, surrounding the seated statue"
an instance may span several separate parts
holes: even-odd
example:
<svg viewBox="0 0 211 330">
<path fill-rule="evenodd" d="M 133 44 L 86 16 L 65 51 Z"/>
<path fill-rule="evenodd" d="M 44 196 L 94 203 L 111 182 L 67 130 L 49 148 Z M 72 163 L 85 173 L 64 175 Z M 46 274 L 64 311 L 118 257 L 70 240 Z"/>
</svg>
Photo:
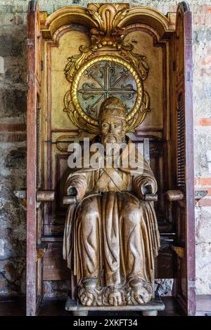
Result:
<svg viewBox="0 0 211 330">
<path fill-rule="evenodd" d="M 121 91 L 127 96 L 128 109 L 135 105 L 138 109 L 129 137 L 135 143 L 148 141 L 148 158 L 158 180 L 155 210 L 161 248 L 155 278 L 174 279 L 172 296 L 184 313 L 194 315 L 191 27 L 192 15 L 185 2 L 179 4 L 177 13 L 167 15 L 147 7 L 130 8 L 129 4 L 69 6 L 48 15 L 30 1 L 27 315 L 37 315 L 46 281 L 71 282 L 62 257 L 68 145 L 84 137 L 94 138 L 98 106 L 105 95 Z M 94 71 L 86 75 L 82 68 L 90 61 Z M 90 86 L 94 86 L 102 62 L 108 67 L 108 80 L 113 79 L 109 70 L 114 66 L 127 79 L 121 78 L 119 84 L 115 78 L 113 86 L 119 91 L 101 82 L 101 93 L 93 95 Z M 139 88 L 131 88 L 136 79 L 133 67 L 141 75 L 136 86 L 144 91 L 142 99 Z M 75 79 L 76 72 L 81 79 Z M 79 111 L 82 108 L 84 112 Z"/>
</svg>

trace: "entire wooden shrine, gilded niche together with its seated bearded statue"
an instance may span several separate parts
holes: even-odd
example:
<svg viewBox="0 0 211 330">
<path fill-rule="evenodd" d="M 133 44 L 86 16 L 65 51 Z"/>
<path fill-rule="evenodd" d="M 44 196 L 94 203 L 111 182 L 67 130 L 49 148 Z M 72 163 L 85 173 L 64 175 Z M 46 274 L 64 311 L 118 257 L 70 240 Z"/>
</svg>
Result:
<svg viewBox="0 0 211 330">
<path fill-rule="evenodd" d="M 165 305 L 150 301 L 154 276 L 175 279 L 174 298 L 186 315 L 195 314 L 191 34 L 185 1 L 167 15 L 120 3 L 65 6 L 49 15 L 30 1 L 27 315 L 39 313 L 46 284 L 59 288 L 67 279 L 65 310 L 73 315 L 157 315 Z M 112 166 L 70 171 L 68 146 L 84 138 L 91 147 L 123 141 L 124 148 L 104 157 Z M 127 165 L 130 152 L 134 164 Z M 155 270 L 157 187 L 143 158 L 149 155 L 163 241 Z"/>
</svg>

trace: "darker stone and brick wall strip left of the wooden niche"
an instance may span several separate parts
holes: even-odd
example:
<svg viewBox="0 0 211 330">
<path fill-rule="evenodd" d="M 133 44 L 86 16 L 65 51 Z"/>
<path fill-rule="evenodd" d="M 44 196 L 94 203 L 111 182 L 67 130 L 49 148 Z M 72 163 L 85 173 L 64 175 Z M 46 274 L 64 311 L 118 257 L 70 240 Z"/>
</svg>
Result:
<svg viewBox="0 0 211 330">
<path fill-rule="evenodd" d="M 25 20 L 23 6 L 0 4 L 0 294 L 12 295 L 25 293 L 26 213 L 13 193 L 26 178 Z"/>
</svg>

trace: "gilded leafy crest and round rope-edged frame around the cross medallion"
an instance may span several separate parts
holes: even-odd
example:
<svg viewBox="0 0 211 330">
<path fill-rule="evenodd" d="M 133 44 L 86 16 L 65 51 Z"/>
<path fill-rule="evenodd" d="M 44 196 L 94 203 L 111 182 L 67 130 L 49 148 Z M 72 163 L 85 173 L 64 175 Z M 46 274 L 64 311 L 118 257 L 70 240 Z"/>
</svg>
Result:
<svg viewBox="0 0 211 330">
<path fill-rule="evenodd" d="M 129 4 L 89 4 L 87 13 L 93 18 L 98 27 L 91 29 L 91 45 L 81 46 L 80 53 L 68 58 L 65 75 L 70 81 L 70 91 L 65 94 L 65 112 L 77 128 L 89 133 L 98 133 L 98 121 L 82 110 L 77 97 L 79 79 L 84 70 L 94 62 L 101 60 L 117 62 L 127 67 L 133 74 L 137 86 L 136 103 L 127 114 L 127 131 L 133 132 L 149 112 L 149 96 L 143 91 L 143 80 L 148 76 L 146 58 L 132 52 L 132 44 L 124 44 L 124 28 L 121 22 L 127 15 Z M 113 48 L 119 55 L 98 55 L 96 51 L 106 51 Z"/>
</svg>

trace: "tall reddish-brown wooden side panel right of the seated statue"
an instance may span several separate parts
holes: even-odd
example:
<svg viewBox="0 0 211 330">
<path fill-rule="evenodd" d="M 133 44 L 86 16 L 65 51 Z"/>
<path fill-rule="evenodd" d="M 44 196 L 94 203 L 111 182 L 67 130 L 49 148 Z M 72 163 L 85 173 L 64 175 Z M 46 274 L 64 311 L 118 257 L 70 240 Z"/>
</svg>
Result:
<svg viewBox="0 0 211 330">
<path fill-rule="evenodd" d="M 177 189 L 184 192 L 178 203 L 177 244 L 184 248 L 184 258 L 177 256 L 177 298 L 188 315 L 196 312 L 195 291 L 195 217 L 193 173 L 192 104 L 192 13 L 183 1 L 177 9 L 175 36 L 175 109 L 177 110 Z"/>
</svg>

